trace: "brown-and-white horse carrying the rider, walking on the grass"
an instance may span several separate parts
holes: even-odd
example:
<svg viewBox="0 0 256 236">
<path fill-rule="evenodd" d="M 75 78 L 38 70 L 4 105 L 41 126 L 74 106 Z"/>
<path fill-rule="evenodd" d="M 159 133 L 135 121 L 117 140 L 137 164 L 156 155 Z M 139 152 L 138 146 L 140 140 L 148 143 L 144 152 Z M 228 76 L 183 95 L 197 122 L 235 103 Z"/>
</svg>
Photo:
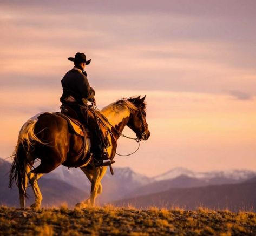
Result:
<svg viewBox="0 0 256 236">
<path fill-rule="evenodd" d="M 108 139 L 111 145 L 107 147 L 107 152 L 111 160 L 116 154 L 117 139 L 125 126 L 135 132 L 137 139 L 149 138 L 145 97 L 117 100 L 101 110 L 109 124 Z M 102 193 L 101 180 L 107 166 L 95 166 L 93 161 L 79 166 L 77 162 L 83 147 L 83 137 L 70 133 L 67 120 L 55 113 L 43 113 L 24 123 L 19 132 L 9 176 L 9 187 L 12 187 L 14 181 L 18 186 L 20 207 L 25 207 L 29 182 L 35 195 L 35 201 L 30 207 L 40 208 L 43 197 L 38 179 L 60 165 L 80 167 L 91 182 L 90 197 L 75 206 L 94 206 L 97 195 Z M 41 163 L 34 168 L 37 158 Z"/>
</svg>

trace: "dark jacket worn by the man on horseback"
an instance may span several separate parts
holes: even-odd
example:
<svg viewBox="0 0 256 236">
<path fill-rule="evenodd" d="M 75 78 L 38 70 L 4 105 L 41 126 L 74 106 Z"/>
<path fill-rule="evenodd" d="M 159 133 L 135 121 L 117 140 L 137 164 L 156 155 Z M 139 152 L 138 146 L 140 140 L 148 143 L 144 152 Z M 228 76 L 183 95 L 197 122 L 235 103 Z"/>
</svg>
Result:
<svg viewBox="0 0 256 236">
<path fill-rule="evenodd" d="M 86 75 L 81 69 L 74 67 L 68 71 L 61 80 L 63 93 L 61 102 L 72 96 L 81 105 L 87 105 L 87 100 L 95 95 L 94 89 L 89 85 Z"/>
</svg>

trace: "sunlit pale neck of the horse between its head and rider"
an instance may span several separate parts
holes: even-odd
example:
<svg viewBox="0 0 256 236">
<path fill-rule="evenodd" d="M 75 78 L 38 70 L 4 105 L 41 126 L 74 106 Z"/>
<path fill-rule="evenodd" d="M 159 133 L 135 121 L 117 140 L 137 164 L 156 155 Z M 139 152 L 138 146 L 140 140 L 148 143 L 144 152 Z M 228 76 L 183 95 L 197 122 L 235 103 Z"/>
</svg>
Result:
<svg viewBox="0 0 256 236">
<path fill-rule="evenodd" d="M 126 108 L 120 110 L 107 109 L 103 110 L 102 113 L 107 117 L 109 123 L 120 133 L 127 125 L 130 117 L 130 111 Z M 119 138 L 120 133 L 116 134 L 116 138 Z"/>
</svg>

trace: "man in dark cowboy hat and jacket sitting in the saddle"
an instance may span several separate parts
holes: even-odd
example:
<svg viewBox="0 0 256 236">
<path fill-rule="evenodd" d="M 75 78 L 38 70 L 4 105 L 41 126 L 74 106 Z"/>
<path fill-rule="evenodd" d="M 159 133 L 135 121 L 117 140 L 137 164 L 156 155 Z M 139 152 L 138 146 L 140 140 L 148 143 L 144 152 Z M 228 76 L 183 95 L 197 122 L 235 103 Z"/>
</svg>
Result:
<svg viewBox="0 0 256 236">
<path fill-rule="evenodd" d="M 61 80 L 63 94 L 61 96 L 62 107 L 69 106 L 73 109 L 78 119 L 80 119 L 88 127 L 93 134 L 94 145 L 91 152 L 94 156 L 95 166 L 110 165 L 111 162 L 104 163 L 103 159 L 108 159 L 106 148 L 102 144 L 102 132 L 99 129 L 94 113 L 89 109 L 87 101 L 92 104 L 95 102 L 95 91 L 89 85 L 87 73 L 84 71 L 86 65 L 89 65 L 91 60 L 86 60 L 86 55 L 77 52 L 75 57 L 69 57 L 68 60 L 74 62 L 74 67 L 68 71 Z"/>
</svg>

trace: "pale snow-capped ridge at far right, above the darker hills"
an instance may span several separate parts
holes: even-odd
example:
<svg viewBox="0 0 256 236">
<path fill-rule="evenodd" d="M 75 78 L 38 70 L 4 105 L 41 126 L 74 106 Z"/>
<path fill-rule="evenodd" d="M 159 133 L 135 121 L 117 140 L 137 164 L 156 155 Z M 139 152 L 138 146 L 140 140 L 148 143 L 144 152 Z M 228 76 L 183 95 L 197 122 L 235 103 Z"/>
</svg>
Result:
<svg viewBox="0 0 256 236">
<path fill-rule="evenodd" d="M 246 180 L 256 176 L 256 171 L 251 170 L 226 170 L 226 171 L 210 171 L 210 172 L 195 172 L 186 168 L 174 168 L 159 176 L 153 177 L 155 181 L 174 179 L 178 176 L 187 176 L 196 179 L 210 180 L 214 178 L 226 178 L 233 180 Z"/>
</svg>

